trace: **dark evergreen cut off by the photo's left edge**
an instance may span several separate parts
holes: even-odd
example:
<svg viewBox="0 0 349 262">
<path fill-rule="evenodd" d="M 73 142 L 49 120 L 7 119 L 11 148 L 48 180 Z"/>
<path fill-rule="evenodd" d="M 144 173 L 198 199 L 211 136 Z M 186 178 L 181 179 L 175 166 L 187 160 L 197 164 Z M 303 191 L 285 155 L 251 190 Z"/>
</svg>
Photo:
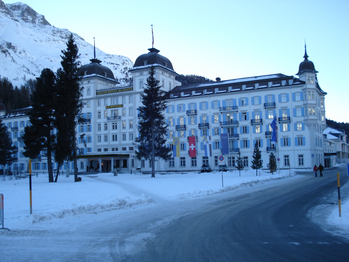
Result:
<svg viewBox="0 0 349 262">
<path fill-rule="evenodd" d="M 5 165 L 11 165 L 17 160 L 14 156 L 16 152 L 17 148 L 12 145 L 12 139 L 9 137 L 7 127 L 0 119 L 0 165 L 3 166 L 3 169 L 5 169 Z"/>
</svg>

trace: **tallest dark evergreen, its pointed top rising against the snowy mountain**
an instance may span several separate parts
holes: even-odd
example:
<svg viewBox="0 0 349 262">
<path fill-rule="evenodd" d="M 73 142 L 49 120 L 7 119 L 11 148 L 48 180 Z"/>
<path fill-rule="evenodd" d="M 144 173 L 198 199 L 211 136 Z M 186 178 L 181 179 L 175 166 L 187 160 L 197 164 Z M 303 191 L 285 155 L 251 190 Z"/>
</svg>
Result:
<svg viewBox="0 0 349 262">
<path fill-rule="evenodd" d="M 80 66 L 80 61 L 77 59 L 80 55 L 73 34 L 70 34 L 67 49 L 62 50 L 62 53 L 62 68 L 57 71 L 55 88 L 57 92 L 54 110 L 54 126 L 57 129 L 55 160 L 59 167 L 64 161 L 74 161 L 74 178 L 77 182 L 76 124 L 83 105 L 82 87 L 79 83 L 81 77 L 77 74 Z"/>
</svg>

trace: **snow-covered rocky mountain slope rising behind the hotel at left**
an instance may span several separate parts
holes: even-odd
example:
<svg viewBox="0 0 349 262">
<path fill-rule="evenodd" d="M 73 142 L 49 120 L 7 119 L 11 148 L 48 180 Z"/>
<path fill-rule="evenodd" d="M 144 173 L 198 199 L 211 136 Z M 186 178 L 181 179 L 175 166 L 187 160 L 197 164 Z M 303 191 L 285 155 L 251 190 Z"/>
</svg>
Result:
<svg viewBox="0 0 349 262">
<path fill-rule="evenodd" d="M 43 15 L 25 3 L 5 4 L 0 0 L 0 75 L 18 87 L 28 79 L 40 76 L 44 68 L 54 72 L 61 66 L 61 50 L 71 32 L 52 26 Z M 90 63 L 93 46 L 74 34 L 81 64 Z M 96 58 L 109 67 L 121 85 L 131 77 L 127 70 L 133 67 L 125 56 L 107 54 L 96 48 Z"/>
</svg>

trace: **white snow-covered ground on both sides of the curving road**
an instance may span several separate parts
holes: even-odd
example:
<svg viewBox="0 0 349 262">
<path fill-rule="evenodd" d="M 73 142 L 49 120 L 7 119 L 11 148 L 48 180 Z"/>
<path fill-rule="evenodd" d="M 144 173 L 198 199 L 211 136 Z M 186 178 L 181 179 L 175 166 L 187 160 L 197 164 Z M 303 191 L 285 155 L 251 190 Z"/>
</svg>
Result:
<svg viewBox="0 0 349 262">
<path fill-rule="evenodd" d="M 299 171 L 299 170 L 297 170 Z M 308 170 L 303 170 L 308 171 Z M 74 176 L 59 176 L 58 183 L 48 183 L 47 174 L 32 176 L 32 214 L 29 206 L 29 179 L 0 181 L 4 195 L 4 226 L 11 230 L 32 227 L 45 229 L 50 223 L 64 220 L 65 226 L 79 216 L 80 223 L 87 214 L 103 216 L 104 211 L 131 209 L 149 203 L 185 201 L 195 197 L 219 194 L 237 188 L 251 187 L 296 175 L 295 170 L 281 170 L 280 174 L 258 170 L 216 173 L 167 173 L 150 175 L 96 173 L 81 175 L 82 181 L 74 183 Z M 349 185 L 343 187 L 348 191 Z M 327 222 L 349 231 L 349 201 L 342 199 L 342 217 L 338 205 L 327 205 Z M 328 207 L 329 206 L 329 207 Z M 136 210 L 136 209 L 135 209 Z M 315 211 L 314 211 L 315 212 Z M 136 213 L 136 212 L 135 212 Z M 316 213 L 316 212 L 315 212 Z M 89 218 L 86 218 L 86 220 Z"/>
</svg>

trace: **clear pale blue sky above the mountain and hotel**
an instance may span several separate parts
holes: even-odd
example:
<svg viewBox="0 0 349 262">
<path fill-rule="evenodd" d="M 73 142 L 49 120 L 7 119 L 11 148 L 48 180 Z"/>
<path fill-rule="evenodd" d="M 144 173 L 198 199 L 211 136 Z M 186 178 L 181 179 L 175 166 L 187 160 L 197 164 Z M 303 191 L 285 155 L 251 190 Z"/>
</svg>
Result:
<svg viewBox="0 0 349 262">
<path fill-rule="evenodd" d="M 177 73 L 212 80 L 294 75 L 305 38 L 320 87 L 328 93 L 326 117 L 349 122 L 347 0 L 24 2 L 53 26 L 92 44 L 96 37 L 99 49 L 133 62 L 151 48 L 153 24 L 154 47 Z"/>
</svg>

